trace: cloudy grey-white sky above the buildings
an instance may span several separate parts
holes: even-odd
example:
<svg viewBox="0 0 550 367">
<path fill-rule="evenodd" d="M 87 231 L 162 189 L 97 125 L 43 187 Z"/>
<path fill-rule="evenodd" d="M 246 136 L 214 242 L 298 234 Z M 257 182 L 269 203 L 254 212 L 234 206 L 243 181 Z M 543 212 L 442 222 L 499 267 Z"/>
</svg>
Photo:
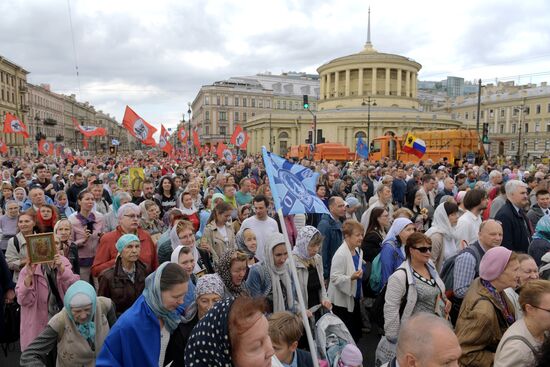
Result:
<svg viewBox="0 0 550 367">
<path fill-rule="evenodd" d="M 30 71 L 31 83 L 74 93 L 119 121 L 128 104 L 174 127 L 201 85 L 315 73 L 362 49 L 369 4 L 374 47 L 420 62 L 421 80 L 550 80 L 544 0 L 69 1 L 0 1 L 0 55 Z"/>
</svg>

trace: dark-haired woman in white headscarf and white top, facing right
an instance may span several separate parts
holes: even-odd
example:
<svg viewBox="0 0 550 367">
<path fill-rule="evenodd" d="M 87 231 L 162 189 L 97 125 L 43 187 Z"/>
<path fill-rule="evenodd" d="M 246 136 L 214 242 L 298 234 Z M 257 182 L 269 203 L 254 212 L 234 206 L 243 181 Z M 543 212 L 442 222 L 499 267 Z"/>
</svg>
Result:
<svg viewBox="0 0 550 367">
<path fill-rule="evenodd" d="M 459 249 L 459 239 L 456 236 L 458 222 L 458 205 L 446 201 L 437 206 L 434 212 L 432 226 L 426 236 L 432 240 L 432 260 L 437 271 L 441 271 L 443 263 L 455 255 Z"/>
</svg>

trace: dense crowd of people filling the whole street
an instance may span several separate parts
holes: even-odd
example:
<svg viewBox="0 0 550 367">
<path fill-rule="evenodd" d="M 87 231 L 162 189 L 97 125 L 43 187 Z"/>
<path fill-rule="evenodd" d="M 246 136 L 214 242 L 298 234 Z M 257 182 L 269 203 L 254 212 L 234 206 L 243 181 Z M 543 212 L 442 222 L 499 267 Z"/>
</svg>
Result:
<svg viewBox="0 0 550 367">
<path fill-rule="evenodd" d="M 280 218 L 260 156 L 4 159 L 20 364 L 355 367 L 371 333 L 376 366 L 550 365 L 548 165 L 298 163 L 327 213 Z M 327 353 L 304 329 L 325 314 L 343 329 Z"/>
</svg>

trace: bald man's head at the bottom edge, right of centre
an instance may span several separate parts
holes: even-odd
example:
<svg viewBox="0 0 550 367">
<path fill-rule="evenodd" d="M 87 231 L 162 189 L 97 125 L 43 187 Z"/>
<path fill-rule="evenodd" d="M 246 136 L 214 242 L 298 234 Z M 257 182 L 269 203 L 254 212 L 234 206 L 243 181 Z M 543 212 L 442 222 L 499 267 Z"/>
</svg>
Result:
<svg viewBox="0 0 550 367">
<path fill-rule="evenodd" d="M 462 354 L 449 323 L 441 317 L 418 313 L 401 327 L 397 355 L 382 367 L 457 366 Z"/>
</svg>

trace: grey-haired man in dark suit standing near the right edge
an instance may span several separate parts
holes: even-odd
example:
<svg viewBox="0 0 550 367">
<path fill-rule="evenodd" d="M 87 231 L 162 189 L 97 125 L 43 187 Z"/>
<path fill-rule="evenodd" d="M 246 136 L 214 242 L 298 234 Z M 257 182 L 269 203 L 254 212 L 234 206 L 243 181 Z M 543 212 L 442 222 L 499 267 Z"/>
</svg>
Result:
<svg viewBox="0 0 550 367">
<path fill-rule="evenodd" d="M 502 246 L 516 252 L 527 253 L 533 229 L 525 208 L 529 205 L 527 185 L 518 180 L 506 183 L 506 204 L 495 219 L 502 223 Z"/>
</svg>

